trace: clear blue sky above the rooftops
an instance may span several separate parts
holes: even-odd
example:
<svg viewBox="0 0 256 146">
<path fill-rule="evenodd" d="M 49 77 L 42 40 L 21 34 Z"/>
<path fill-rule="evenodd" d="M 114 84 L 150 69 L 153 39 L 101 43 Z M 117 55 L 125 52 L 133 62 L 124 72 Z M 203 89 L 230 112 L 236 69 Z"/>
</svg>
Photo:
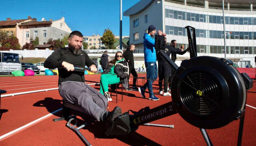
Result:
<svg viewBox="0 0 256 146">
<path fill-rule="evenodd" d="M 102 35 L 109 28 L 119 36 L 120 0 L 0 0 L 0 21 L 11 19 L 26 19 L 28 15 L 41 21 L 61 18 L 72 31 L 78 30 L 84 36 Z M 122 0 L 122 10 L 140 0 Z M 123 16 L 123 36 L 129 35 L 129 17 Z"/>
</svg>

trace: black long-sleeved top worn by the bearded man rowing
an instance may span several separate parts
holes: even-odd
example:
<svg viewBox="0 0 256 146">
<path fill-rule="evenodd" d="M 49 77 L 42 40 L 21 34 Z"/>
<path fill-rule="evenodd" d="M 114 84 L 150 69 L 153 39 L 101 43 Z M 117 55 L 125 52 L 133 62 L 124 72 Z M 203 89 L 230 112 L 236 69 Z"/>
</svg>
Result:
<svg viewBox="0 0 256 146">
<path fill-rule="evenodd" d="M 72 52 L 70 52 L 70 50 L 67 47 L 56 49 L 46 59 L 43 66 L 48 69 L 58 68 L 58 84 L 61 84 L 61 82 L 65 81 L 85 82 L 85 71 L 66 71 L 66 69 L 62 67 L 63 61 L 73 64 L 74 67 L 84 68 L 85 65 L 87 67 L 90 67 L 92 64 L 96 66 L 96 64 L 91 60 L 91 58 L 89 58 L 89 56 L 83 51 L 80 55 L 75 55 Z"/>
</svg>

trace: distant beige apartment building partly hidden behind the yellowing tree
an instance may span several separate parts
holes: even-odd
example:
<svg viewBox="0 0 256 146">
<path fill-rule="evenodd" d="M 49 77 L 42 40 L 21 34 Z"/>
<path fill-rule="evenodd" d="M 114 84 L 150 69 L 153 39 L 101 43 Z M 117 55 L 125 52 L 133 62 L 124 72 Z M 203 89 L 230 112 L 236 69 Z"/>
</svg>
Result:
<svg viewBox="0 0 256 146">
<path fill-rule="evenodd" d="M 99 34 L 93 34 L 92 36 L 83 36 L 84 42 L 88 43 L 88 48 L 84 49 L 90 49 L 91 47 L 95 46 L 96 49 L 104 49 L 105 45 L 102 44 L 102 41 L 100 40 L 102 36 Z M 115 39 L 119 39 L 119 36 L 115 36 Z M 122 36 L 122 39 L 129 39 L 129 36 Z"/>
</svg>

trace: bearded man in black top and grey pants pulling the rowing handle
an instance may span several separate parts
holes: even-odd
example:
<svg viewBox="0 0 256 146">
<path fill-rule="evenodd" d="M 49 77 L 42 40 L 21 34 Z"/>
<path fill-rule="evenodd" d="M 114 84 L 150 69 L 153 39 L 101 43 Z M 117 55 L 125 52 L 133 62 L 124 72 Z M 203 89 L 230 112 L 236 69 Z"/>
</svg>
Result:
<svg viewBox="0 0 256 146">
<path fill-rule="evenodd" d="M 83 41 L 82 33 L 73 31 L 69 34 L 68 47 L 56 49 L 44 62 L 44 67 L 58 68 L 59 93 L 64 101 L 82 107 L 85 113 L 95 120 L 112 122 L 121 115 L 121 108 L 115 107 L 112 112 L 107 112 L 108 101 L 104 95 L 85 83 L 85 72 L 74 70 L 75 67 L 97 71 L 96 64 L 81 50 Z"/>
</svg>

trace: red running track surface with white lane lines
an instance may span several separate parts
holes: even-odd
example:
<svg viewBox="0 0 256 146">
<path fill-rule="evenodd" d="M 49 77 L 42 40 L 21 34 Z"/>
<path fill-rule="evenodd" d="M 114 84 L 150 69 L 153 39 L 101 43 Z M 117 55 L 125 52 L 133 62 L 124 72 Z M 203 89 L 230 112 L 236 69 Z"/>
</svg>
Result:
<svg viewBox="0 0 256 146">
<path fill-rule="evenodd" d="M 139 74 L 145 76 L 145 74 Z M 98 82 L 100 75 L 85 75 L 88 84 Z M 91 81 L 91 82 L 89 82 Z M 130 81 L 130 84 L 132 81 Z M 56 88 L 58 84 L 57 76 L 24 76 L 24 77 L 0 77 L 0 89 L 7 90 L 6 94 Z M 139 85 L 142 82 L 139 80 Z M 143 107 L 157 107 L 171 101 L 170 97 L 163 97 L 158 94 L 158 84 L 154 82 L 154 93 L 160 98 L 160 101 L 150 101 L 141 98 L 137 91 L 124 92 L 124 100 L 118 95 L 118 103 L 109 102 L 109 108 L 112 110 L 115 106 L 120 106 L 123 112 L 130 109 L 138 111 Z M 99 86 L 93 86 L 97 90 Z M 119 93 L 121 90 L 118 90 Z M 247 94 L 247 105 L 256 107 L 256 82 L 254 87 Z M 148 93 L 146 93 L 146 97 Z M 30 94 L 15 95 L 13 97 L 2 97 L 0 117 L 0 136 L 9 133 L 19 127 L 22 127 L 38 118 L 41 118 L 62 107 L 62 98 L 58 90 L 46 92 L 36 92 Z M 8 111 L 7 111 L 8 110 Z M 78 138 L 74 131 L 65 127 L 67 121 L 53 122 L 53 118 L 59 118 L 62 112 L 53 116 L 44 118 L 35 124 L 22 129 L 8 137 L 0 140 L 0 146 L 31 146 L 31 145 L 56 145 L 56 146 L 80 146 L 83 142 Z M 245 123 L 243 131 L 243 146 L 256 145 L 256 110 L 252 107 L 246 107 Z M 120 146 L 120 145 L 163 145 L 163 146 L 202 146 L 206 145 L 204 138 L 197 127 L 193 127 L 179 114 L 169 116 L 152 123 L 155 124 L 174 124 L 174 129 L 140 126 L 133 135 L 106 137 L 101 134 L 101 127 L 93 125 L 88 129 L 81 129 L 80 132 L 87 140 L 95 146 Z M 239 129 L 239 120 L 231 122 L 225 127 L 219 129 L 207 130 L 215 146 L 234 146 L 237 142 Z"/>
</svg>

